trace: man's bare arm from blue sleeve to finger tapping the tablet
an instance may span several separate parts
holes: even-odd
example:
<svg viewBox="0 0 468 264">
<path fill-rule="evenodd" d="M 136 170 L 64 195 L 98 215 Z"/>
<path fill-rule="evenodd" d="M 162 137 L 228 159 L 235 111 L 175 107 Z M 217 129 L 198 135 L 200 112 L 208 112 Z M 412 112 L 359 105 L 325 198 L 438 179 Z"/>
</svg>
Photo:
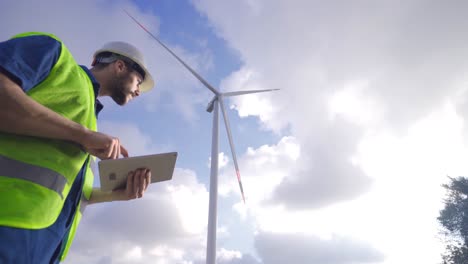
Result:
<svg viewBox="0 0 468 264">
<path fill-rule="evenodd" d="M 28 97 L 0 71 L 0 131 L 73 141 L 101 159 L 128 156 L 117 138 L 94 132 Z"/>
</svg>

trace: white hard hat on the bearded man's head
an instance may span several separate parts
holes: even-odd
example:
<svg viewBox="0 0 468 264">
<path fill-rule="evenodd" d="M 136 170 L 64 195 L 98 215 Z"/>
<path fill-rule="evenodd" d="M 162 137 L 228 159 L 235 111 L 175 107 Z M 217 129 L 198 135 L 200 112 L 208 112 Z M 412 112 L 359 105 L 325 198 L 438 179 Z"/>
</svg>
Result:
<svg viewBox="0 0 468 264">
<path fill-rule="evenodd" d="M 140 85 L 140 90 L 142 92 L 151 90 L 154 87 L 154 80 L 150 72 L 146 68 L 145 60 L 143 59 L 143 54 L 133 45 L 121 41 L 113 41 L 104 44 L 102 48 L 94 52 L 94 59 L 96 56 L 103 52 L 112 52 L 124 56 L 134 63 L 136 63 L 144 71 L 144 80 Z"/>
</svg>

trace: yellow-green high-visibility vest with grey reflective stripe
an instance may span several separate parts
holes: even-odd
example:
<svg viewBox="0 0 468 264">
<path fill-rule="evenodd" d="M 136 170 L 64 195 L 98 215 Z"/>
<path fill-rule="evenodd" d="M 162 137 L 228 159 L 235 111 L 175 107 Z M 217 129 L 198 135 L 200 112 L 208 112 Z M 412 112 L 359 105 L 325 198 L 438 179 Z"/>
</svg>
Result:
<svg viewBox="0 0 468 264">
<path fill-rule="evenodd" d="M 29 32 L 14 38 L 32 35 L 46 35 L 58 40 L 61 52 L 47 78 L 27 95 L 63 117 L 96 131 L 95 95 L 88 75 L 57 37 Z M 82 199 L 62 254 L 63 260 L 92 192 L 94 176 L 88 159 L 89 154 L 73 142 L 0 132 L 0 225 L 24 229 L 52 225 L 86 162 Z"/>
</svg>

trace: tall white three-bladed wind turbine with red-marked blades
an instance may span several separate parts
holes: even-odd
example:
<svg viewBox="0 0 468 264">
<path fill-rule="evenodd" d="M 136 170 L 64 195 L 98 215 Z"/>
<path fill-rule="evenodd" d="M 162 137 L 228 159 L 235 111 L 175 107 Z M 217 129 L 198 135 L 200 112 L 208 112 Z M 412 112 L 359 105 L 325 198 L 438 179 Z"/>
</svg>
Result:
<svg viewBox="0 0 468 264">
<path fill-rule="evenodd" d="M 251 91 L 236 91 L 221 93 L 203 79 L 197 72 L 195 72 L 190 66 L 188 66 L 182 59 L 180 59 L 172 50 L 170 50 L 162 41 L 154 36 L 145 26 L 143 26 L 138 20 L 136 20 L 130 13 L 124 10 L 125 13 L 137 23 L 144 31 L 146 31 L 154 40 L 156 40 L 164 49 L 166 49 L 174 58 L 176 58 L 187 70 L 189 70 L 195 78 L 197 78 L 206 88 L 213 92 L 213 99 L 208 103 L 206 111 L 213 112 L 213 134 L 211 141 L 211 168 L 210 168 L 210 198 L 209 198 L 209 212 L 208 212 L 208 234 L 207 234 L 207 250 L 206 250 L 206 264 L 214 264 L 216 261 L 216 226 L 217 226 L 217 209 L 218 209 L 218 143 L 219 143 L 219 107 L 221 106 L 221 112 L 223 114 L 224 124 L 226 126 L 226 132 L 229 139 L 229 145 L 231 147 L 232 160 L 234 161 L 234 167 L 236 169 L 237 181 L 239 182 L 239 188 L 242 195 L 242 200 L 245 203 L 244 188 L 242 187 L 242 181 L 239 173 L 239 165 L 237 164 L 236 150 L 232 140 L 232 133 L 229 124 L 229 119 L 226 114 L 226 108 L 224 106 L 223 99 L 230 96 L 238 96 L 243 94 L 261 93 L 276 91 L 279 89 L 267 89 L 267 90 L 251 90 Z"/>
</svg>

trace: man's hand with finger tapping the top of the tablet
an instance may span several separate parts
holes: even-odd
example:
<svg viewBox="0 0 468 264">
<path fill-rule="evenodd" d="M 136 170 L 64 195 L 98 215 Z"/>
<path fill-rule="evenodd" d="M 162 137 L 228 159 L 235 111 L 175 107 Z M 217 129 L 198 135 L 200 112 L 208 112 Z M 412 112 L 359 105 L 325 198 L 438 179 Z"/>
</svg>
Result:
<svg viewBox="0 0 468 264">
<path fill-rule="evenodd" d="M 104 133 L 87 131 L 80 144 L 89 154 L 102 160 L 117 159 L 120 155 L 128 157 L 128 151 L 120 140 Z"/>
</svg>

